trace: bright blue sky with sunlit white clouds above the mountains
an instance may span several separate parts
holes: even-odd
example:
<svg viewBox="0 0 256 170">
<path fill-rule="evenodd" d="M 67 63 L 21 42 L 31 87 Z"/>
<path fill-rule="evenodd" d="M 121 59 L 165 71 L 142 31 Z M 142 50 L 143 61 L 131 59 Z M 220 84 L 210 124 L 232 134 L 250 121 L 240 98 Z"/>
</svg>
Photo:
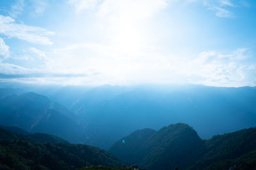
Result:
<svg viewBox="0 0 256 170">
<path fill-rule="evenodd" d="M 0 82 L 256 85 L 254 0 L 0 1 Z"/>
</svg>

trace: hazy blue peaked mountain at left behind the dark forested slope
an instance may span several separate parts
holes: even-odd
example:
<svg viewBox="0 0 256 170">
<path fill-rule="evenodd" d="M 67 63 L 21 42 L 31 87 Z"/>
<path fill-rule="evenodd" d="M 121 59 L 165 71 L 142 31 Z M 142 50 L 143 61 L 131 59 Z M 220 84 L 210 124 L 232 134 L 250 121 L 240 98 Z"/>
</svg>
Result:
<svg viewBox="0 0 256 170">
<path fill-rule="evenodd" d="M 67 108 L 33 92 L 14 94 L 0 101 L 0 124 L 28 132 L 44 132 L 70 142 L 82 142 L 83 131 Z"/>
</svg>

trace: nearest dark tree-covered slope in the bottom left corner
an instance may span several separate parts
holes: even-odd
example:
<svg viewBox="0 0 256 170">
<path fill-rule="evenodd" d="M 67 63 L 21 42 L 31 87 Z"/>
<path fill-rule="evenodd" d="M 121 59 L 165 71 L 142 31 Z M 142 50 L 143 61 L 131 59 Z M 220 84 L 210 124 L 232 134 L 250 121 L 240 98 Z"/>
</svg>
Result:
<svg viewBox="0 0 256 170">
<path fill-rule="evenodd" d="M 2 140 L 0 164 L 2 169 L 5 166 L 10 169 L 77 169 L 97 165 L 118 167 L 122 162 L 88 145 Z"/>
</svg>

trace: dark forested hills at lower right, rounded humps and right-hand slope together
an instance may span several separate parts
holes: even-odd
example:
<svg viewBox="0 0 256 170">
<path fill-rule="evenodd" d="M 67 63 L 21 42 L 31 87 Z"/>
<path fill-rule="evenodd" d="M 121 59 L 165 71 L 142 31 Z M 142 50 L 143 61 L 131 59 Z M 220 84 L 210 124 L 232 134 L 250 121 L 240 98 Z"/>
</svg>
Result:
<svg viewBox="0 0 256 170">
<path fill-rule="evenodd" d="M 207 140 L 186 124 L 141 129 L 117 141 L 109 152 L 148 170 L 255 169 L 256 127 Z"/>
</svg>

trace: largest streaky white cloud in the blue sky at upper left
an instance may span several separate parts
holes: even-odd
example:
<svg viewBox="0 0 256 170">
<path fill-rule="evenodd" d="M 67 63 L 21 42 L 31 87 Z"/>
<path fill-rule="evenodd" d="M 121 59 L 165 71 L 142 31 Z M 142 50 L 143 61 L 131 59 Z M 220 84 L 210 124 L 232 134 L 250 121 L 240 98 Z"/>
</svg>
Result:
<svg viewBox="0 0 256 170">
<path fill-rule="evenodd" d="M 17 24 L 13 18 L 0 15 L 0 34 L 9 38 L 22 39 L 30 43 L 52 45 L 52 42 L 47 36 L 54 33 L 40 27 Z"/>
</svg>

